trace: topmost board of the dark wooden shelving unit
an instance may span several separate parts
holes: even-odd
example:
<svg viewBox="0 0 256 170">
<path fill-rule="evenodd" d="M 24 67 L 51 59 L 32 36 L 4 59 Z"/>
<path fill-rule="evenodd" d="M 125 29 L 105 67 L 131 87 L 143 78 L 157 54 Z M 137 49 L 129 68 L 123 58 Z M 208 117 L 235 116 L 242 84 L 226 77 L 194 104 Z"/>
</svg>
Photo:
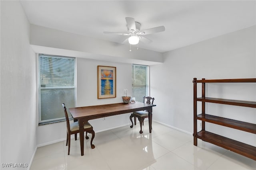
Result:
<svg viewBox="0 0 256 170">
<path fill-rule="evenodd" d="M 256 78 L 196 80 L 196 82 L 197 83 L 249 83 L 249 82 L 256 82 Z"/>
</svg>

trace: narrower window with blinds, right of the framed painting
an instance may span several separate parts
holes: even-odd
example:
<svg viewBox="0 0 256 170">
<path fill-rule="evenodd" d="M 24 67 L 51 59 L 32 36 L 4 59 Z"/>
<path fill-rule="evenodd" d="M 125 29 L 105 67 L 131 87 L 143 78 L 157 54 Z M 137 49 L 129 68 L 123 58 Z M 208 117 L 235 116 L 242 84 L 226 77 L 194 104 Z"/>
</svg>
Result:
<svg viewBox="0 0 256 170">
<path fill-rule="evenodd" d="M 132 64 L 132 97 L 144 102 L 143 97 L 148 94 L 148 66 Z"/>
</svg>

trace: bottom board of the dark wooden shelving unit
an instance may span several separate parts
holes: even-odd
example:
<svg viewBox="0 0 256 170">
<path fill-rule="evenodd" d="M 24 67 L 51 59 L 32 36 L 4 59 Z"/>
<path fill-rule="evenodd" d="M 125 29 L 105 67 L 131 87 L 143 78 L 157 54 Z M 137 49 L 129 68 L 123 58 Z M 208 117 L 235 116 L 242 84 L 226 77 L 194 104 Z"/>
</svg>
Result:
<svg viewBox="0 0 256 170">
<path fill-rule="evenodd" d="M 216 135 L 208 131 L 200 131 L 197 133 L 196 137 L 202 139 L 203 141 L 218 145 L 219 147 L 231 150 L 233 152 L 256 160 L 256 147 L 253 147 L 251 145 L 247 145 L 233 139 Z"/>
</svg>

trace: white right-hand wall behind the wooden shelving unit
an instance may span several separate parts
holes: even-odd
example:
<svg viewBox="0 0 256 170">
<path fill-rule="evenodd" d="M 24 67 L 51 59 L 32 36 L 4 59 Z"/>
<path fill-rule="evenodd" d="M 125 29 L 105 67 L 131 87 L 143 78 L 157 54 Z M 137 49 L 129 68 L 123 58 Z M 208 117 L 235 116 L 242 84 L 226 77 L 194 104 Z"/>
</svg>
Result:
<svg viewBox="0 0 256 170">
<path fill-rule="evenodd" d="M 162 76 L 160 76 L 162 75 Z M 193 133 L 193 78 L 255 78 L 256 26 L 189 45 L 164 54 L 164 63 L 150 66 L 153 119 Z M 198 86 L 198 96 L 201 94 Z M 210 97 L 256 101 L 256 84 L 206 85 Z M 198 102 L 198 112 L 200 112 Z M 206 113 L 256 123 L 255 108 L 206 104 Z M 255 134 L 219 125 L 206 128 L 256 146 Z"/>
</svg>

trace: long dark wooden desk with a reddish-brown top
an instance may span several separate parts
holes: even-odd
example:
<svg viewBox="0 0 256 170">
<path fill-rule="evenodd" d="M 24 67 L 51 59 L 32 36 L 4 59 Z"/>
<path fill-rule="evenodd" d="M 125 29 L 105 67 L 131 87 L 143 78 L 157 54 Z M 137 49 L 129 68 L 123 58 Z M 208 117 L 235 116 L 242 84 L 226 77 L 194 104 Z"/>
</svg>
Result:
<svg viewBox="0 0 256 170">
<path fill-rule="evenodd" d="M 156 105 L 135 102 L 135 103 L 129 103 L 129 104 L 117 103 L 117 104 L 105 104 L 105 105 L 98 105 L 98 106 L 69 108 L 69 111 L 72 117 L 74 119 L 78 119 L 81 156 L 84 155 L 84 131 L 83 131 L 84 123 L 88 122 L 88 120 L 112 116 L 112 115 L 120 115 L 120 114 L 130 113 L 134 111 L 148 110 L 149 133 L 151 133 L 153 106 L 156 106 Z"/>
</svg>

